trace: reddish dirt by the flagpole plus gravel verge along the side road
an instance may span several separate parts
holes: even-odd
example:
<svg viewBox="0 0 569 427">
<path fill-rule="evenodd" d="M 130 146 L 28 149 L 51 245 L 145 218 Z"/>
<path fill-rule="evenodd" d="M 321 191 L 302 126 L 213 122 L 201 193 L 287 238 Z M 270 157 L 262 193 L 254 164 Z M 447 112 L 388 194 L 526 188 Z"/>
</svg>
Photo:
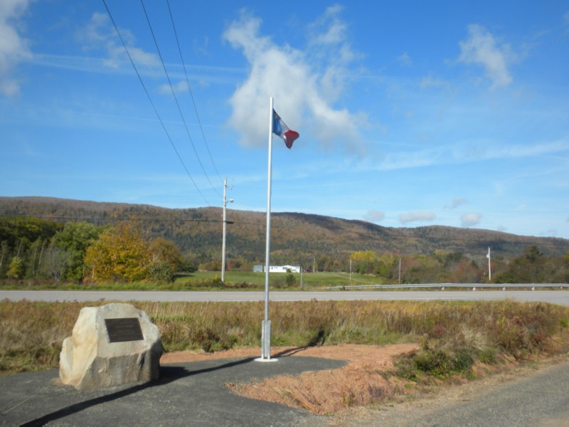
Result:
<svg viewBox="0 0 569 427">
<path fill-rule="evenodd" d="M 378 422 L 385 426 L 400 426 L 413 425 L 413 420 L 420 419 L 416 417 L 433 408 L 453 401 L 473 399 L 481 391 L 528 374 L 538 365 L 555 363 L 553 359 L 543 359 L 533 366 L 519 367 L 506 362 L 494 371 L 475 367 L 476 381 L 457 380 L 452 385 L 429 387 L 418 387 L 414 383 L 385 375 L 393 367 L 393 357 L 415 349 L 418 349 L 418 344 L 272 347 L 272 357 L 325 357 L 346 360 L 348 364 L 334 370 L 306 372 L 299 376 L 276 376 L 253 384 L 227 386 L 235 393 L 253 399 L 326 414 L 328 416 L 322 418 L 322 426 L 375 426 Z M 162 356 L 161 364 L 230 357 L 260 357 L 260 348 L 215 353 L 172 352 Z M 565 355 L 562 359 L 569 359 L 569 356 Z"/>
</svg>

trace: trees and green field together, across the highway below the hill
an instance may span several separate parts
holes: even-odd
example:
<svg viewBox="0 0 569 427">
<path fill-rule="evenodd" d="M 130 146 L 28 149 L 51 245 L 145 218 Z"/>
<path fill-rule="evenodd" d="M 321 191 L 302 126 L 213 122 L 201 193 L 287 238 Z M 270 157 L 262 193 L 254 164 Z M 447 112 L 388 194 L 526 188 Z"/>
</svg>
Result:
<svg viewBox="0 0 569 427">
<path fill-rule="evenodd" d="M 282 233 L 282 231 L 280 231 Z M 144 221 L 105 226 L 65 224 L 38 218 L 0 217 L 0 286 L 5 289 L 254 289 L 264 286 L 264 261 L 228 257 L 225 283 L 220 253 L 200 248 L 182 253 L 176 243 L 151 236 Z M 307 254 L 302 255 L 307 258 Z M 430 254 L 376 251 L 313 253 L 299 263 L 294 251 L 275 250 L 272 263 L 302 265 L 306 271 L 271 275 L 281 289 L 394 283 L 569 283 L 569 253 L 545 255 L 536 245 L 514 258 L 494 255 L 491 280 L 487 260 L 459 251 Z M 297 260 L 296 262 L 294 260 Z M 309 273 L 310 272 L 310 273 Z"/>
</svg>

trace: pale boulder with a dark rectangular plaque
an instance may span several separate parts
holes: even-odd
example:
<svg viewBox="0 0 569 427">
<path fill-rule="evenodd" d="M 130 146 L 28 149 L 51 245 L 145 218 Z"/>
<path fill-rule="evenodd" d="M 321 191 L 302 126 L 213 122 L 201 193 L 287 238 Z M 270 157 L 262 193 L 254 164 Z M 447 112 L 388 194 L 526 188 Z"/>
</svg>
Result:
<svg viewBox="0 0 569 427">
<path fill-rule="evenodd" d="M 134 305 L 84 307 L 63 341 L 59 376 L 78 390 L 144 383 L 158 379 L 162 352 L 158 327 Z"/>
</svg>

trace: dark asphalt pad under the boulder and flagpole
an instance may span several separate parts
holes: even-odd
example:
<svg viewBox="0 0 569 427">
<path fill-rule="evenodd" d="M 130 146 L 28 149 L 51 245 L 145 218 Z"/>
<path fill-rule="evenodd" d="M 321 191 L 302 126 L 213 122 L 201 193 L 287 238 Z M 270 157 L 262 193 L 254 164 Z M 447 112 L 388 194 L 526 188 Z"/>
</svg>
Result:
<svg viewBox="0 0 569 427">
<path fill-rule="evenodd" d="M 0 377 L 3 426 L 302 426 L 321 418 L 307 411 L 248 399 L 225 384 L 280 374 L 336 369 L 346 362 L 315 357 L 253 358 L 164 364 L 147 384 L 78 391 L 58 371 Z"/>
</svg>

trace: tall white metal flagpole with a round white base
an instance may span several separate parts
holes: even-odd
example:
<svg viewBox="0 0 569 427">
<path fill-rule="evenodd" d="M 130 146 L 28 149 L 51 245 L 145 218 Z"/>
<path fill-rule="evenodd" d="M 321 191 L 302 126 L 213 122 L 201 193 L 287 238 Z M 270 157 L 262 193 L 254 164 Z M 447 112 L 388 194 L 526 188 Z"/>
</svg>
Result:
<svg viewBox="0 0 569 427">
<path fill-rule="evenodd" d="M 272 97 L 269 108 L 269 160 L 267 167 L 267 247 L 265 250 L 265 319 L 261 328 L 261 357 L 255 359 L 260 362 L 275 362 L 271 359 L 271 321 L 269 320 L 269 266 L 271 248 L 271 180 L 272 180 Z"/>
</svg>

